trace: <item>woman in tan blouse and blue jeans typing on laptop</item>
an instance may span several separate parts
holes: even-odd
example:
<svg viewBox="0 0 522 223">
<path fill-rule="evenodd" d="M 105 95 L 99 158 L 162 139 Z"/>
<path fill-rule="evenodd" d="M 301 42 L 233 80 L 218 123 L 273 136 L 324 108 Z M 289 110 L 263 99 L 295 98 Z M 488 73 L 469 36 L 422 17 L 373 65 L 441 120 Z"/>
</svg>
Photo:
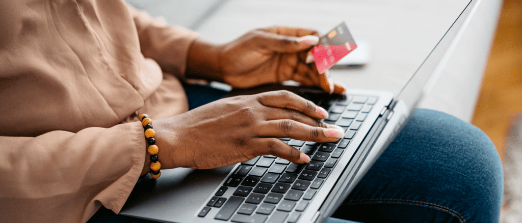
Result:
<svg viewBox="0 0 522 223">
<path fill-rule="evenodd" d="M 185 85 L 185 96 L 179 81 L 246 88 L 295 80 L 342 94 L 306 63 L 315 31 L 258 29 L 214 45 L 123 1 L 9 1 L 0 10 L 0 219 L 8 222 L 86 222 L 101 206 L 92 221 L 136 220 L 114 213 L 151 172 L 140 114 L 153 119 L 161 169 L 266 154 L 306 163 L 277 138 L 343 134 L 317 121 L 324 109 L 287 91 L 210 102 L 219 92 Z M 210 103 L 188 111 L 194 91 Z M 454 117 L 418 110 L 335 216 L 492 222 L 501 200 L 491 141 Z"/>
</svg>

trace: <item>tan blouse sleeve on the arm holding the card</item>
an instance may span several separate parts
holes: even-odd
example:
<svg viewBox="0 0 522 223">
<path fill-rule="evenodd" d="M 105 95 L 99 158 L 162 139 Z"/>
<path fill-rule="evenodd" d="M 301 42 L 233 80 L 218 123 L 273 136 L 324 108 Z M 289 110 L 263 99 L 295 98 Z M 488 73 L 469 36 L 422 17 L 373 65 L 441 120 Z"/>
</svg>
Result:
<svg viewBox="0 0 522 223">
<path fill-rule="evenodd" d="M 188 49 L 198 34 L 182 27 L 169 26 L 161 18 L 151 19 L 132 6 L 129 11 L 136 23 L 141 53 L 178 78 L 185 78 Z"/>
</svg>

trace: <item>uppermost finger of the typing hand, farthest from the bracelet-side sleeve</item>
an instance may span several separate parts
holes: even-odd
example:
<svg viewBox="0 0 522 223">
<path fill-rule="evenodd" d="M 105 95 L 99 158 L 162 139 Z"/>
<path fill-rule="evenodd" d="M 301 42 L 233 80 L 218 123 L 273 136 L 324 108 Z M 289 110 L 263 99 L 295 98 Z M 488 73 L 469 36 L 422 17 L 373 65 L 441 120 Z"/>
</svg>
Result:
<svg viewBox="0 0 522 223">
<path fill-rule="evenodd" d="M 288 90 L 269 91 L 255 96 L 259 103 L 264 106 L 293 109 L 314 119 L 326 119 L 328 117 L 325 109 Z"/>
</svg>

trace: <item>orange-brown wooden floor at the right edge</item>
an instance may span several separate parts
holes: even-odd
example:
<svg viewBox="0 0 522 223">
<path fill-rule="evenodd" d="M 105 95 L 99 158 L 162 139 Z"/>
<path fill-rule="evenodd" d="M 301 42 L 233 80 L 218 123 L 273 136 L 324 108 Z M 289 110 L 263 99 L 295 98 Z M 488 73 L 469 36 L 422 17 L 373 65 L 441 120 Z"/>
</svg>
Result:
<svg viewBox="0 0 522 223">
<path fill-rule="evenodd" d="M 502 150 L 522 114 L 522 1 L 505 0 L 472 124 Z"/>
</svg>

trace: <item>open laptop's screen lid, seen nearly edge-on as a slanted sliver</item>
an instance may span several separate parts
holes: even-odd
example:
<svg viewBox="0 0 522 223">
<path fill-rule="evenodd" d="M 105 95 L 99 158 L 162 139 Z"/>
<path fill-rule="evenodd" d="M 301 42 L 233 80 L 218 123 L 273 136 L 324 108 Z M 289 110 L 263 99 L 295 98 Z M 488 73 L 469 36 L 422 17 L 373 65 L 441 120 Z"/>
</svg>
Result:
<svg viewBox="0 0 522 223">
<path fill-rule="evenodd" d="M 442 69 L 449 59 L 458 43 L 460 36 L 469 23 L 472 15 L 477 9 L 480 0 L 471 0 L 466 8 L 460 13 L 459 17 L 453 22 L 452 26 L 442 36 L 435 48 L 422 62 L 420 67 L 413 73 L 406 85 L 401 89 L 396 101 L 392 104 L 395 107 L 397 101 L 404 102 L 411 112 L 417 107 L 424 95 L 428 94 L 440 76 Z M 464 26 L 464 27 L 463 27 Z M 461 29 L 463 27 L 463 29 Z"/>
</svg>

